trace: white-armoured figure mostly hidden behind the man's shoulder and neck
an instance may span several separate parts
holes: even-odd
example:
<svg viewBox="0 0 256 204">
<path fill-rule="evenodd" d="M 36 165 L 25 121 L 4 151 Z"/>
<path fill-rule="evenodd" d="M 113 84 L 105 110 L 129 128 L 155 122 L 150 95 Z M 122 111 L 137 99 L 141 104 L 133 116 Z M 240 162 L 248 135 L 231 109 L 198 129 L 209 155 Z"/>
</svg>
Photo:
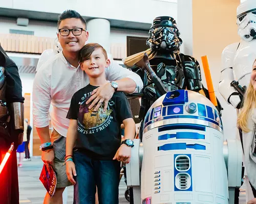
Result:
<svg viewBox="0 0 256 204">
<path fill-rule="evenodd" d="M 44 52 L 42 52 L 37 66 L 36 66 L 36 71 L 38 71 L 38 69 L 46 62 L 48 61 L 50 58 L 54 57 L 55 55 L 57 55 L 59 52 L 61 52 L 62 47 L 58 41 L 58 38 L 55 39 L 55 49 L 46 49 Z"/>
</svg>

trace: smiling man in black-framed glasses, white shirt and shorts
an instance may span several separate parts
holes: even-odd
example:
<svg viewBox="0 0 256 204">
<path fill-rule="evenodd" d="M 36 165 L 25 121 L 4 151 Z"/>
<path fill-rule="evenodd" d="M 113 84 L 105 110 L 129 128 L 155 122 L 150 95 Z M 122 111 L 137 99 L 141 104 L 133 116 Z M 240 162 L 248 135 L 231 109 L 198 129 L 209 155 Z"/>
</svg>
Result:
<svg viewBox="0 0 256 204">
<path fill-rule="evenodd" d="M 62 192 L 71 183 L 67 179 L 65 163 L 66 136 L 69 119 L 66 118 L 73 94 L 89 84 L 89 78 L 79 67 L 79 51 L 88 40 L 86 21 L 79 13 L 67 10 L 59 16 L 58 40 L 62 52 L 48 60 L 37 71 L 33 84 L 33 117 L 41 141 L 42 161 L 57 172 L 57 188 L 51 198 L 47 193 L 44 203 L 62 203 Z M 134 72 L 111 60 L 105 69 L 107 83 L 92 93 L 89 109 L 104 102 L 105 109 L 115 91 L 133 93 L 142 89 L 142 81 Z M 49 107 L 53 106 L 49 134 Z"/>
</svg>

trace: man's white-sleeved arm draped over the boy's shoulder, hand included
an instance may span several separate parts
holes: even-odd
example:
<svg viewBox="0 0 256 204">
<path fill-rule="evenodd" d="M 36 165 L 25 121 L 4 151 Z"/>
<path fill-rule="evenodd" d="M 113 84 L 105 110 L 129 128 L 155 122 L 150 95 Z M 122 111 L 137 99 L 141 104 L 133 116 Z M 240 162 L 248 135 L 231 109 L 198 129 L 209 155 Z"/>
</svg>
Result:
<svg viewBox="0 0 256 204">
<path fill-rule="evenodd" d="M 137 73 L 123 68 L 113 60 L 111 61 L 110 66 L 106 68 L 105 74 L 106 80 L 115 81 L 118 84 L 118 91 L 134 93 L 140 92 L 140 90 L 143 88 L 142 80 Z M 95 106 L 95 110 L 97 110 L 104 102 L 104 110 L 106 110 L 108 107 L 108 102 L 113 96 L 114 92 L 115 89 L 111 86 L 110 83 L 107 83 L 95 89 L 92 92 L 92 96 L 87 100 L 86 104 L 90 104 L 91 101 L 93 101 L 89 106 L 89 109 L 93 108 L 97 104 Z"/>
</svg>

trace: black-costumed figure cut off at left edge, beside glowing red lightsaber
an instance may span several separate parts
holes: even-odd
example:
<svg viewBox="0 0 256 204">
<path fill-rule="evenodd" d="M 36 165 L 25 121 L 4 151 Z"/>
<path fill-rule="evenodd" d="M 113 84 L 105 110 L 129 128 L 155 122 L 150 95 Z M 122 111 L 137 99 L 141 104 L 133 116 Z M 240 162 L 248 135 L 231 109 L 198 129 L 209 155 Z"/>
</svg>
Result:
<svg viewBox="0 0 256 204">
<path fill-rule="evenodd" d="M 0 44 L 0 163 L 14 142 L 12 154 L 0 174 L 0 203 L 19 203 L 16 148 L 23 139 L 23 103 L 18 68 Z"/>
</svg>

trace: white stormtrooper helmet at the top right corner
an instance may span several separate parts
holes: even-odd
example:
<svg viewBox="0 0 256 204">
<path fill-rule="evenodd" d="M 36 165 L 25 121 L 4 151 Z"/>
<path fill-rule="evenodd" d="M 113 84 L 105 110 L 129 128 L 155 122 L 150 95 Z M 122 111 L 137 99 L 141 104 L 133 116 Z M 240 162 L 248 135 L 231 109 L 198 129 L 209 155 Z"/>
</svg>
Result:
<svg viewBox="0 0 256 204">
<path fill-rule="evenodd" d="M 246 0 L 237 9 L 238 35 L 244 41 L 256 38 L 256 1 Z"/>
</svg>

